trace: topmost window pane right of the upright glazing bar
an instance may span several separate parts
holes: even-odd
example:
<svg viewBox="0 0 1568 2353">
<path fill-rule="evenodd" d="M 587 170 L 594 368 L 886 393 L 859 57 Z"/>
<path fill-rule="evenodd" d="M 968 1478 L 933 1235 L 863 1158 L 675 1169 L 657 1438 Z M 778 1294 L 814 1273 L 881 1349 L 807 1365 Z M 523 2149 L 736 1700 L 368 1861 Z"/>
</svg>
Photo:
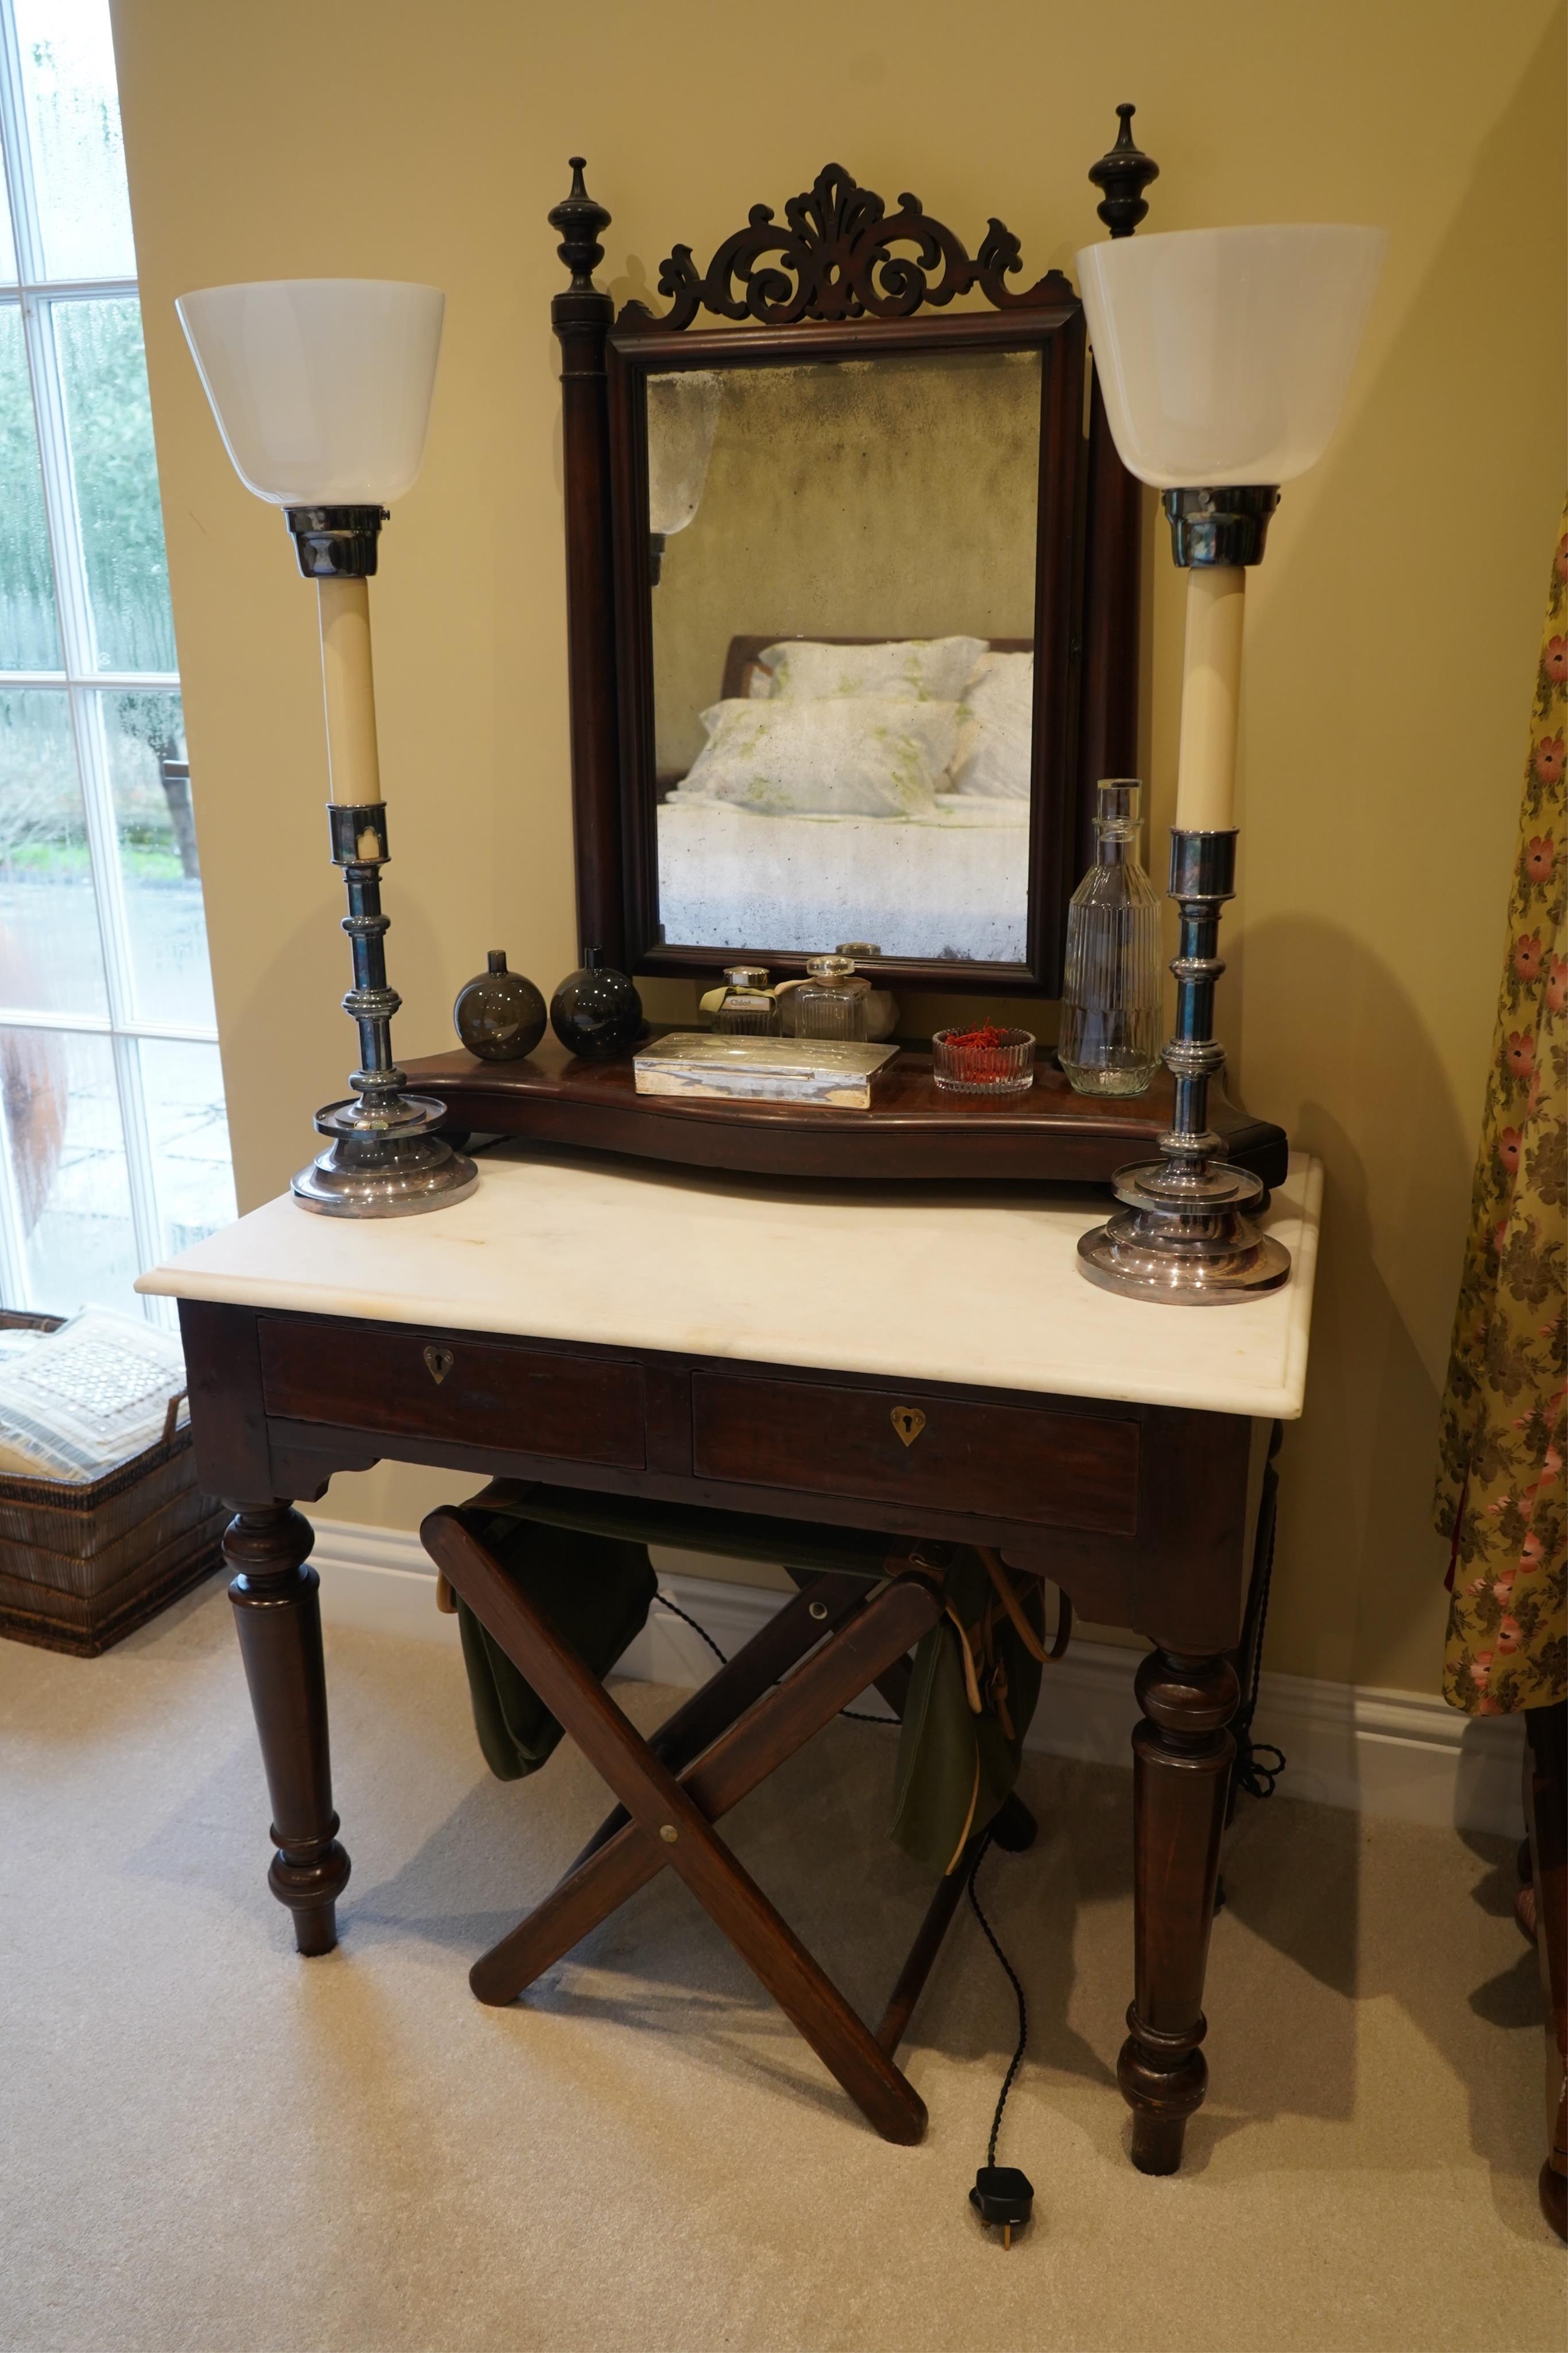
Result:
<svg viewBox="0 0 1568 2353">
<path fill-rule="evenodd" d="M 134 278 L 108 0 L 16 0 L 49 278 Z"/>
</svg>

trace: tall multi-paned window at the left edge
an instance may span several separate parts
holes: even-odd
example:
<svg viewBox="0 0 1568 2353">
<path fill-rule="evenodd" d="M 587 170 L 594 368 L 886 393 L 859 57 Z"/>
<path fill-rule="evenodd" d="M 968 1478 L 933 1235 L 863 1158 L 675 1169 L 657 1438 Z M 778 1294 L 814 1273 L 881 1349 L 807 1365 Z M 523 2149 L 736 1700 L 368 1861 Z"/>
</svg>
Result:
<svg viewBox="0 0 1568 2353">
<path fill-rule="evenodd" d="M 235 1200 L 108 0 L 0 0 L 0 1304 L 129 1308 Z"/>
</svg>

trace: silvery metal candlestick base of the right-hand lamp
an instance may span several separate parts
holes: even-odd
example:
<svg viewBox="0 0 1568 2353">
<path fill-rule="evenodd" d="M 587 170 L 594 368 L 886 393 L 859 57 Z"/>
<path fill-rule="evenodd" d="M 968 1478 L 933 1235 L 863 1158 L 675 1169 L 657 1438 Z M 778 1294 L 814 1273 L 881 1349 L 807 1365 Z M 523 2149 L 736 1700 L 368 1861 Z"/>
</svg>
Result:
<svg viewBox="0 0 1568 2353">
<path fill-rule="evenodd" d="M 1180 955 L 1171 965 L 1175 1038 L 1166 1047 L 1175 1120 L 1159 1139 L 1164 1160 L 1117 1169 L 1112 1186 L 1124 1207 L 1079 1238 L 1079 1273 L 1124 1299 L 1239 1306 L 1291 1280 L 1288 1249 L 1248 1217 L 1262 1200 L 1262 1179 L 1220 1160 L 1222 1141 L 1208 1127 L 1208 1080 L 1225 1068 L 1225 1047 L 1213 1038 L 1213 988 L 1225 972 L 1215 946 L 1234 875 L 1234 831 L 1171 831 L 1171 896 L 1182 911 Z"/>
</svg>

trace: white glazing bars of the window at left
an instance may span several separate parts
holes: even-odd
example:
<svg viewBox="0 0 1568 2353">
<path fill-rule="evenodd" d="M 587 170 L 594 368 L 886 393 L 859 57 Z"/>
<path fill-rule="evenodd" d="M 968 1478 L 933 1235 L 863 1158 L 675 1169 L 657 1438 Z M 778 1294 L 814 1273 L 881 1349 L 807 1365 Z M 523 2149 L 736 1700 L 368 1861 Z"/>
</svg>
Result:
<svg viewBox="0 0 1568 2353">
<path fill-rule="evenodd" d="M 5 193 L 12 209 L 12 238 L 16 245 L 19 273 L 14 285 L 0 282 L 0 306 L 21 308 L 28 381 L 33 388 L 33 419 L 38 426 L 45 518 L 49 527 L 49 555 L 54 560 L 54 609 L 59 614 L 63 656 L 63 671 L 0 671 L 0 689 L 40 687 L 63 694 L 71 706 L 71 739 L 82 781 L 87 849 L 92 859 L 92 887 L 108 991 L 108 1014 L 47 1014 L 0 1005 L 0 1024 L 7 1028 L 73 1031 L 78 1035 L 110 1040 L 115 1092 L 120 1099 L 120 1127 L 125 1134 L 136 1264 L 153 1266 L 162 1257 L 162 1233 L 136 1045 L 141 1038 L 216 1045 L 219 1033 L 209 1024 L 146 1021 L 136 1014 L 132 934 L 125 908 L 115 802 L 108 776 L 101 704 L 96 696 L 113 692 L 179 694 L 179 671 L 101 671 L 96 666 L 92 602 L 87 593 L 87 560 L 82 551 L 75 485 L 71 478 L 66 405 L 49 320 L 49 304 L 54 301 L 125 301 L 127 296 L 139 301 L 139 285 L 134 278 L 49 278 L 45 273 L 45 245 L 38 216 L 33 148 L 21 80 L 21 47 L 16 40 L 12 0 L 0 0 L 0 148 L 5 151 Z M 42 1299 L 35 1301 L 31 1297 L 21 1209 L 5 1139 L 0 1139 L 0 1299 L 5 1299 L 7 1306 L 54 1304 Z M 158 1322 L 165 1320 L 160 1313 L 162 1306 L 165 1301 L 143 1301 L 143 1308 Z"/>
</svg>

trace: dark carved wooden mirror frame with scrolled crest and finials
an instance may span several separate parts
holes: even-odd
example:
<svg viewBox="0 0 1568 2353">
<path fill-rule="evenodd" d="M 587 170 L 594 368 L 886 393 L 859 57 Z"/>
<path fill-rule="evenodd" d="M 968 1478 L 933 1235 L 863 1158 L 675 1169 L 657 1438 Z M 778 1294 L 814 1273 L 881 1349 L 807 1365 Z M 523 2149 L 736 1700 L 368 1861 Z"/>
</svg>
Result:
<svg viewBox="0 0 1568 2353">
<path fill-rule="evenodd" d="M 1121 136 L 1093 167 L 1112 235 L 1145 216 L 1154 165 Z M 1143 492 L 1117 456 L 1086 358 L 1084 311 L 1056 271 L 1016 289 L 1018 240 L 990 221 L 971 261 L 910 195 L 882 198 L 827 165 L 776 224 L 752 207 L 701 273 L 689 247 L 663 264 L 651 315 L 592 285 L 609 214 L 571 160 L 550 214 L 569 289 L 550 304 L 562 344 L 567 640 L 578 951 L 632 974 L 717 972 L 724 948 L 658 939 L 654 654 L 646 504 L 646 376 L 668 369 L 797 365 L 912 353 L 1039 348 L 1037 678 L 1030 807 L 1030 925 L 1023 965 L 884 958 L 891 984 L 987 995 L 1060 995 L 1067 901 L 1093 852 L 1093 788 L 1138 772 Z M 898 252 L 893 252 L 898 247 Z M 910 259 L 914 247 L 917 259 Z M 987 308 L 945 311 L 954 294 Z M 733 325 L 691 329 L 701 311 Z M 766 944 L 752 946 L 757 953 Z M 832 941 L 825 941 L 832 946 Z M 766 948 L 771 969 L 804 955 Z"/>
</svg>

